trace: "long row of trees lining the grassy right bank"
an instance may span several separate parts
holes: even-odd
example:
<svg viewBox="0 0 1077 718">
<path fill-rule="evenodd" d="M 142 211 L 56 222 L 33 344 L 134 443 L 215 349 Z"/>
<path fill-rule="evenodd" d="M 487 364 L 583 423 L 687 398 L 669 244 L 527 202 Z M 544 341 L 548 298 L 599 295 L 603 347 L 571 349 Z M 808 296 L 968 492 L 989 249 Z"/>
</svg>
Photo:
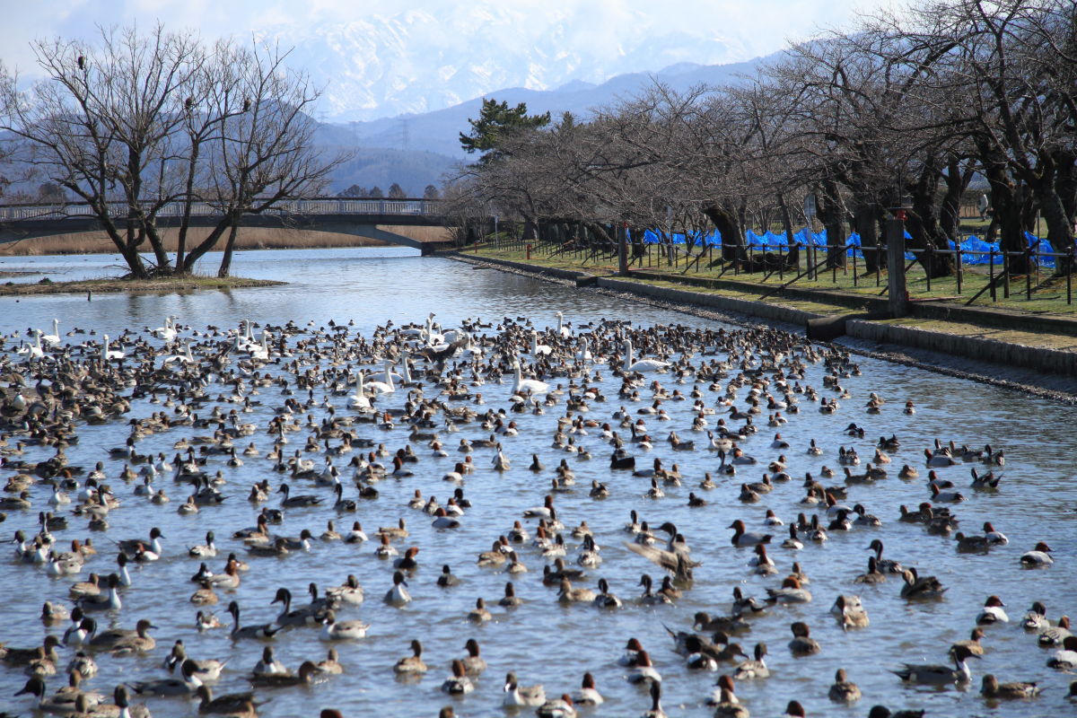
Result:
<svg viewBox="0 0 1077 718">
<path fill-rule="evenodd" d="M 805 221 L 805 199 L 837 249 L 876 244 L 905 208 L 913 248 L 957 240 L 962 195 L 990 185 L 1005 251 L 1035 217 L 1059 251 L 1077 219 L 1077 3 L 921 2 L 862 17 L 848 33 L 788 48 L 756 76 L 674 91 L 654 83 L 586 123 L 492 100 L 461 136 L 485 152 L 451 191 L 461 215 L 498 213 L 613 243 L 611 226 L 722 234 L 743 257 L 749 226 Z M 635 234 L 635 233 L 633 233 Z M 884 252 L 866 251 L 867 271 Z M 949 256 L 921 255 L 935 276 Z M 1027 269 L 1024 257 L 1010 262 Z M 1060 262 L 1063 269 L 1067 262 Z"/>
</svg>

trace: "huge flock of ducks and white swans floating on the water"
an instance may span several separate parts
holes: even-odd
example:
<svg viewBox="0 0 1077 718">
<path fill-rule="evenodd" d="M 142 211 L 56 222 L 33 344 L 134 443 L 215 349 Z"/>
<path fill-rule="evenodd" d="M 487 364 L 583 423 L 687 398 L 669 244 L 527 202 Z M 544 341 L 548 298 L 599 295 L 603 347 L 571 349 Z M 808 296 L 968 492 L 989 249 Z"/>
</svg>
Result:
<svg viewBox="0 0 1077 718">
<path fill-rule="evenodd" d="M 79 328 L 61 336 L 59 322 L 51 334 L 31 329 L 3 338 L 0 378 L 9 389 L 0 406 L 0 478 L 6 482 L 0 509 L 15 526 L 12 563 L 3 571 L 10 585 L 22 572 L 41 571 L 55 579 L 41 610 L 41 642 L 0 644 L 2 670 L 27 678 L 15 696 L 4 700 L 9 710 L 127 718 L 150 715 L 146 701 L 191 701 L 199 714 L 250 718 L 260 708 L 272 714 L 274 696 L 288 689 L 370 676 L 380 680 L 379 671 L 422 676 L 445 665 L 439 688 L 456 700 L 440 709 L 443 718 L 467 713 L 468 694 L 491 690 L 503 693 L 506 709 L 533 709 L 541 718 L 599 715 L 598 678 L 638 685 L 638 710 L 659 718 L 666 715 L 662 665 L 667 673 L 721 674 L 709 694 L 699 695 L 700 704 L 705 702 L 715 716 L 745 718 L 751 706 L 738 696 L 737 686 L 771 675 L 767 643 L 754 640 L 745 650 L 746 634 L 769 636 L 771 644 L 789 638 L 792 656 L 810 657 L 823 650 L 809 621 L 823 618 L 811 613 L 813 592 L 824 605 L 833 600 L 826 620 L 870 635 L 872 602 L 906 602 L 914 616 L 918 607 L 945 601 L 948 581 L 960 580 L 887 558 L 879 538 L 884 523 L 893 519 L 950 537 L 959 553 L 1006 550 L 1009 543 L 990 522 L 981 532 L 959 530 L 963 502 L 999 490 L 1003 449 L 941 439 L 911 448 L 896 435 L 875 441 L 856 423 L 862 414 L 913 414 L 914 403 L 887 402 L 876 393 L 866 404 L 865 397 L 854 400 L 842 385 L 859 374 L 848 354 L 782 332 L 638 328 L 616 321 L 572 326 L 560 314 L 556 327 L 542 332 L 524 318 L 495 325 L 468 320 L 443 329 L 432 314 L 423 324 L 390 322 L 366 337 L 332 322 L 325 327 L 244 322 L 233 329 L 193 329 L 176 319 L 115 338 Z M 255 328 L 261 328 L 257 336 Z M 812 367 L 822 368 L 819 386 L 808 381 Z M 786 423 L 811 426 L 813 418 L 839 411 L 853 421 L 837 440 L 817 437 L 791 446 L 782 438 Z M 80 445 L 80 433 L 94 425 L 125 426 L 127 434 L 112 449 Z M 548 449 L 521 455 L 514 448 L 521 435 L 542 437 Z M 163 441 L 171 441 L 171 448 L 140 451 L 140 445 L 162 447 Z M 862 457 L 857 446 L 871 448 Z M 807 454 L 819 468 L 792 476 L 787 456 L 794 453 Z M 682 473 L 677 459 L 700 455 L 709 471 Z M 236 476 L 244 464 L 244 476 L 252 465 L 258 467 L 257 479 L 241 487 Z M 453 560 L 434 567 L 436 581 L 416 586 L 424 565 L 418 536 L 426 535 L 414 531 L 420 518 L 433 535 L 452 543 L 474 515 L 473 503 L 509 501 L 471 493 L 468 483 L 513 466 L 517 474 L 522 466 L 532 473 L 528 504 L 534 505 L 499 513 L 501 524 L 482 529 L 485 543 L 456 546 Z M 577 482 L 577 471 L 595 478 Z M 954 485 L 969 474 L 970 481 Z M 883 501 L 887 481 L 922 482 L 922 503 L 877 518 L 868 506 Z M 802 497 L 796 515 L 780 517 L 789 502 L 770 504 L 768 498 L 788 498 L 797 487 Z M 586 494 L 592 508 L 567 522 L 560 497 L 573 493 Z M 615 494 L 638 498 L 627 524 L 620 531 L 593 530 L 610 525 L 603 502 Z M 401 496 L 392 511 L 402 518 L 367 534 L 360 519 L 369 507 Z M 677 525 L 659 518 L 670 512 L 663 508 L 668 504 L 658 503 L 662 499 L 680 502 L 699 520 Z M 233 508 L 249 502 L 253 525 L 222 525 L 214 512 L 226 501 Z M 733 512 L 743 518 L 728 524 L 732 554 L 701 550 L 698 544 L 694 550 L 697 537 L 718 529 L 708 506 L 740 507 Z M 114 536 L 110 522 L 129 512 L 142 513 L 144 532 Z M 184 525 L 191 533 L 166 536 L 155 518 L 164 512 L 190 517 Z M 316 520 L 325 522 L 323 532 L 297 527 Z M 847 555 L 827 559 L 811 547 L 845 535 L 856 536 L 857 549 L 869 549 L 865 569 L 840 585 L 812 586 L 813 560 L 844 561 Z M 226 538 L 226 548 L 219 548 L 219 537 Z M 276 572 L 280 582 L 308 583 L 303 563 L 277 562 L 295 554 L 318 562 L 323 541 L 373 552 L 383 568 L 342 563 L 339 585 L 309 582 L 302 601 L 279 588 L 271 604 L 280 611 L 272 620 L 241 622 L 241 609 L 265 603 L 243 590 L 244 578 Z M 234 647 L 226 659 L 199 654 L 197 646 L 182 639 L 155 637 L 154 617 L 135 620 L 125 610 L 125 592 L 135 582 L 152 585 L 157 565 L 187 561 L 191 616 L 199 635 L 227 633 Z M 527 565 L 536 561 L 541 572 Z M 439 656 L 436 664 L 428 664 L 421 623 L 402 610 L 394 635 L 416 631 L 409 652 L 393 665 L 364 663 L 364 642 L 375 639 L 368 632 L 377 633 L 358 618 L 364 602 L 406 609 L 412 593 L 421 593 L 436 603 L 432 592 L 467 590 L 458 577 L 463 562 L 503 583 L 503 595 L 491 599 L 491 605 L 478 597 L 460 617 L 476 630 L 527 611 L 520 587 L 541 583 L 551 603 L 591 609 L 597 617 L 635 611 L 661 622 L 670 643 L 644 646 L 638 637 L 609 637 L 596 628 L 570 638 L 609 639 L 623 644 L 624 653 L 616 665 L 578 666 L 579 688 L 522 685 L 517 672 L 527 666 L 512 665 L 498 666 L 507 675 L 491 686 L 485 678 L 498 671 L 487 665 L 477 638 L 461 639 L 456 658 Z M 630 563 L 640 574 L 641 592 L 616 595 L 610 580 L 597 576 L 604 562 L 606 567 Z M 739 583 L 731 588 L 731 603 L 695 611 L 679 624 L 677 603 L 709 580 L 709 564 L 719 562 L 743 565 L 745 575 L 771 577 L 772 585 L 756 597 L 745 595 Z M 1020 547 L 1012 558 L 1016 571 L 1031 569 L 1029 581 L 1052 563 L 1046 541 Z M 886 588 L 891 581 L 897 588 Z M 1050 649 L 1051 670 L 1077 668 L 1077 636 L 1068 618 L 1049 620 L 1045 603 L 1037 601 L 1012 623 L 1029 633 L 1031 643 Z M 214 613 L 218 604 L 230 621 Z M 984 596 L 969 639 L 938 646 L 948 662 L 883 667 L 892 670 L 894 680 L 964 687 L 975 680 L 971 664 L 990 651 L 991 627 L 1011 623 L 1005 609 L 998 595 Z M 162 605 L 160 610 L 188 609 Z M 601 618 L 595 621 L 601 625 Z M 274 647 L 285 631 L 308 631 L 310 645 L 323 642 L 320 656 L 325 658 L 305 660 L 295 670 L 283 665 Z M 129 656 L 158 657 L 154 665 L 159 668 L 140 670 L 110 691 L 86 687 L 101 663 Z M 571 653 L 561 660 L 571 660 Z M 862 700 L 849 675 L 854 667 L 864 670 L 837 671 L 829 700 L 845 705 Z M 214 693 L 222 676 L 240 676 L 250 690 Z M 980 692 L 990 701 L 1035 700 L 1043 678 L 1020 680 L 1025 677 L 987 673 L 980 676 Z M 52 690 L 57 684 L 61 687 Z M 774 681 L 774 690 L 782 686 L 788 685 Z M 1069 698 L 1075 696 L 1077 682 L 1069 688 Z M 801 700 L 792 696 L 785 715 L 806 716 Z M 341 715 L 333 708 L 321 712 L 322 718 Z M 875 705 L 867 715 L 909 718 L 923 710 Z"/>
</svg>

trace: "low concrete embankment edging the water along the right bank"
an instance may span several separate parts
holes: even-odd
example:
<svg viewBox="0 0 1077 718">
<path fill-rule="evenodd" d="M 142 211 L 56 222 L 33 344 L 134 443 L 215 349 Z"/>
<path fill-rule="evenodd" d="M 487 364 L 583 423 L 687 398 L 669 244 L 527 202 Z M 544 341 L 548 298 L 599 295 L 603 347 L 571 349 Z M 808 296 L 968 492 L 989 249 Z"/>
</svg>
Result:
<svg viewBox="0 0 1077 718">
<path fill-rule="evenodd" d="M 690 301 L 683 298 L 686 295 L 696 294 L 690 291 L 677 292 L 677 299 L 665 299 L 653 296 L 648 293 L 635 291 L 638 287 L 631 286 L 632 283 L 627 281 L 618 281 L 616 288 L 601 286 L 600 284 L 581 285 L 576 281 L 577 272 L 568 272 L 563 270 L 550 271 L 548 268 L 541 266 L 524 268 L 520 266 L 522 263 L 512 263 L 513 266 L 506 266 L 502 265 L 501 261 L 490 261 L 492 257 L 476 257 L 473 255 L 464 255 L 462 253 L 444 253 L 439 256 L 453 259 L 456 262 L 463 262 L 464 264 L 471 264 L 476 267 L 481 266 L 487 269 L 535 277 L 548 282 L 576 286 L 585 292 L 599 292 L 606 295 L 621 296 L 626 299 L 631 299 L 632 301 L 642 301 L 654 307 L 660 307 L 662 309 L 669 309 L 693 316 L 712 319 L 733 324 L 736 326 L 757 327 L 759 325 L 765 325 L 775 326 L 775 328 L 798 334 L 805 332 L 805 326 L 802 324 L 773 318 L 767 319 L 759 316 L 758 314 L 753 314 L 750 311 L 715 309 L 713 307 L 708 307 L 702 301 Z M 646 285 L 641 284 L 640 286 L 643 287 Z M 699 295 L 699 298 L 702 299 L 707 296 L 708 295 Z M 761 302 L 738 302 L 738 306 L 744 306 L 745 309 L 751 310 L 752 307 L 749 306 L 751 304 L 757 305 L 757 308 L 767 307 Z M 943 333 L 932 334 L 939 335 L 939 338 L 942 336 L 951 336 L 943 335 Z M 899 364 L 901 366 L 934 371 L 936 374 L 943 374 L 959 379 L 967 379 L 978 383 L 991 384 L 1055 402 L 1062 402 L 1064 404 L 1077 405 L 1077 381 L 1075 381 L 1073 377 L 1064 375 L 1008 367 L 1002 364 L 967 358 L 945 352 L 918 349 L 915 347 L 908 347 L 894 342 L 879 342 L 870 339 L 858 339 L 851 336 L 841 337 L 836 341 L 821 343 L 831 343 L 861 356 L 882 360 L 893 364 Z"/>
</svg>

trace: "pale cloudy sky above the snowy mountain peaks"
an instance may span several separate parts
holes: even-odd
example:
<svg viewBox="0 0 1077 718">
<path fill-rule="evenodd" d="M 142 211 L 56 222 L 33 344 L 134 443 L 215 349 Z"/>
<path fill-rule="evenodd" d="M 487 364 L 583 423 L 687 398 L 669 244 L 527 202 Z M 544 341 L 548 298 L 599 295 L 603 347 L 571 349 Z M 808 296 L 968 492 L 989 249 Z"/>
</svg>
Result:
<svg viewBox="0 0 1077 718">
<path fill-rule="evenodd" d="M 54 37 L 89 40 L 96 34 L 97 25 L 136 23 L 149 28 L 162 22 L 171 30 L 194 29 L 206 39 L 223 34 L 243 39 L 252 33 L 267 33 L 283 37 L 286 43 L 289 36 L 299 37 L 318 25 L 332 27 L 379 14 L 459 11 L 453 14 L 480 18 L 481 1 L 409 0 L 396 4 L 383 0 L 4 0 L 8 6 L 0 23 L 0 60 L 17 68 L 24 78 L 32 78 L 36 67 L 29 41 Z M 496 0 L 493 6 L 513 11 L 510 15 L 520 26 L 521 38 L 528 37 L 527 31 L 532 27 L 569 18 L 571 42 L 587 43 L 591 51 L 600 53 L 606 48 L 611 54 L 623 50 L 617 46 L 618 39 L 629 34 L 639 37 L 641 25 L 655 34 L 683 33 L 700 40 L 721 40 L 726 52 L 719 58 L 711 58 L 713 64 L 768 55 L 789 40 L 805 40 L 823 29 L 849 28 L 857 12 L 872 13 L 898 1 Z M 503 30 L 499 28 L 499 32 Z M 478 37 L 481 42 L 481 33 Z M 438 44 L 444 47 L 447 43 L 451 52 L 452 43 L 468 39 L 453 34 L 439 40 Z M 421 46 L 414 48 L 417 54 L 421 51 Z M 610 69 L 617 70 L 615 65 Z"/>
</svg>

